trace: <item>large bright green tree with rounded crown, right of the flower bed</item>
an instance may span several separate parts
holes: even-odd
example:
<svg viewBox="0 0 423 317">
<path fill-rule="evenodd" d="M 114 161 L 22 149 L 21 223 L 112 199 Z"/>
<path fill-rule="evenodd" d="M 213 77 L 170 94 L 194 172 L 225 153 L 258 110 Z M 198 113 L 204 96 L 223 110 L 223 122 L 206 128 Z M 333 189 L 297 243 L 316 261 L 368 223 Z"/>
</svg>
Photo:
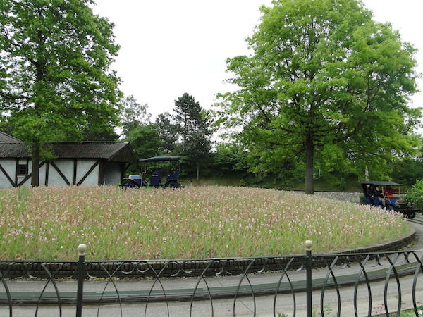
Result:
<svg viewBox="0 0 423 317">
<path fill-rule="evenodd" d="M 339 154 L 372 170 L 410 150 L 407 118 L 419 116 L 407 107 L 416 89 L 412 45 L 357 0 L 272 4 L 247 39 L 252 54 L 228 59 L 239 89 L 221 94 L 218 111 L 219 123 L 236 127 L 257 158 L 256 169 L 297 162 L 312 194 L 316 154 L 321 165 L 329 163 L 325 154 Z"/>
</svg>

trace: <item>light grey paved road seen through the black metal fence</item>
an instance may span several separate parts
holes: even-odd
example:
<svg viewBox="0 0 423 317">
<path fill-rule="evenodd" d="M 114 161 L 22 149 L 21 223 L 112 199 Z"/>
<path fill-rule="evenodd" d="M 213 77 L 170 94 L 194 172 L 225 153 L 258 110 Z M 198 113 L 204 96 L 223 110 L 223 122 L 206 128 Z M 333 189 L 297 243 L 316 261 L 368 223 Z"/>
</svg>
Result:
<svg viewBox="0 0 423 317">
<path fill-rule="evenodd" d="M 410 249 L 423 249 L 423 225 L 415 224 L 415 228 L 419 235 L 419 240 Z M 358 267 L 355 268 L 357 271 Z M 336 268 L 336 276 L 340 276 L 348 273 L 352 273 L 351 270 L 342 270 Z M 314 280 L 324 278 L 326 270 L 315 270 L 313 272 Z M 266 273 L 260 275 L 250 275 L 250 281 L 253 285 L 266 284 L 277 282 L 281 277 L 281 273 Z M 298 271 L 290 273 L 290 279 L 295 283 L 305 280 L 305 271 Z M 228 287 L 230 285 L 238 285 L 240 281 L 239 277 L 224 277 L 224 278 L 207 278 L 202 281 L 199 285 L 200 290 L 206 286 L 208 287 Z M 149 290 L 152 285 L 152 280 L 139 280 L 139 281 L 117 281 L 116 287 L 119 291 L 130 291 L 130 290 Z M 191 289 L 195 286 L 197 279 L 166 279 L 162 280 L 163 287 L 166 290 L 172 289 Z M 16 281 L 8 284 L 11 292 L 26 290 L 27 292 L 34 291 L 39 292 L 44 287 L 45 282 L 35 281 Z M 247 285 L 244 281 L 243 285 Z M 417 287 L 417 298 L 423 298 L 423 277 L 420 278 L 419 287 Z M 374 282 L 372 283 L 372 313 L 381 313 L 381 308 L 384 303 L 384 286 L 385 282 Z M 412 289 L 412 276 L 400 279 L 400 287 L 403 292 L 401 302 L 403 302 L 403 308 L 411 307 L 411 296 L 407 290 Z M 74 292 L 76 289 L 75 282 L 60 282 L 59 289 L 62 291 Z M 87 292 L 102 292 L 104 289 L 103 281 L 91 281 L 85 283 L 85 291 Z M 107 291 L 113 291 L 113 285 L 109 285 Z M 160 287 L 157 285 L 154 290 L 159 291 Z M 343 287 L 341 293 L 342 300 L 342 311 L 341 316 L 353 316 L 353 287 Z M 3 291 L 0 286 L 0 292 Z M 49 285 L 47 291 L 54 291 L 53 287 Z M 388 307 L 390 311 L 395 311 L 398 305 L 398 290 L 396 287 L 395 280 L 391 280 L 388 284 Z M 405 294 L 405 295 L 404 295 Z M 367 316 L 367 309 L 369 306 L 369 300 L 367 290 L 365 286 L 359 287 L 358 292 L 358 305 L 359 316 Z M 336 293 L 334 290 L 325 292 L 324 294 L 324 307 L 326 314 L 331 316 L 329 310 L 336 311 Z M 313 302 L 316 306 L 319 305 L 321 299 L 321 292 L 314 292 Z M 236 316 L 273 316 L 273 307 L 275 305 L 276 312 L 288 313 L 288 316 L 293 316 L 293 297 L 290 294 L 278 294 L 278 297 L 274 296 L 261 296 L 256 297 L 243 297 L 236 299 L 235 301 L 235 313 Z M 305 293 L 295 293 L 295 305 L 297 316 L 305 316 Z M 329 309 L 329 307 L 331 307 Z M 379 308 L 378 308 L 379 307 Z M 149 304 L 107 304 L 102 305 L 100 308 L 97 305 L 85 305 L 83 308 L 83 316 L 189 316 L 189 312 L 192 311 L 192 316 L 233 316 L 234 300 L 233 299 L 214 299 L 210 301 L 194 302 L 191 307 L 191 302 L 171 302 L 165 303 L 149 303 Z M 317 308 L 316 308 L 317 309 Z M 38 316 L 59 316 L 60 311 L 57 306 L 44 305 L 39 307 Z M 13 306 L 13 316 L 34 316 L 34 306 Z M 0 306 L 0 316 L 9 316 L 7 306 Z M 75 306 L 64 305 L 62 306 L 62 316 L 75 316 Z"/>
</svg>

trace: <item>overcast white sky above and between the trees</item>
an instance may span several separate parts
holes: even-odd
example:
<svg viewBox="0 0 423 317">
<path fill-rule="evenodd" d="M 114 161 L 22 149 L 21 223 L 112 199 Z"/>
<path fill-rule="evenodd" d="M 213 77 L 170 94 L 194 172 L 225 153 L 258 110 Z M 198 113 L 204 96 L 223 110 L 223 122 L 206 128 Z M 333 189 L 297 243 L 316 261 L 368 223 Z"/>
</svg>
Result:
<svg viewBox="0 0 423 317">
<path fill-rule="evenodd" d="M 259 6 L 271 0 L 97 0 L 94 13 L 115 23 L 121 45 L 113 68 L 125 95 L 148 104 L 155 118 L 171 111 L 184 92 L 210 108 L 218 92 L 231 90 L 223 80 L 226 58 L 247 54 L 245 38 L 259 23 Z M 364 0 L 379 22 L 391 22 L 403 40 L 419 49 L 423 73 L 423 1 Z M 423 81 L 419 80 L 419 90 Z M 412 97 L 423 106 L 423 92 Z"/>
</svg>

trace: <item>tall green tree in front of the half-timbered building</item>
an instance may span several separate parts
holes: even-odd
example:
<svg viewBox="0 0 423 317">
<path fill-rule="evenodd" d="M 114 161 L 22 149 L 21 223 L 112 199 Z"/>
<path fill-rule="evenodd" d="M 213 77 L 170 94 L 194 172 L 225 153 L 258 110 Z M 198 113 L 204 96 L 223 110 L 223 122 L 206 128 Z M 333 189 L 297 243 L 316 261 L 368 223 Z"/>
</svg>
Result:
<svg viewBox="0 0 423 317">
<path fill-rule="evenodd" d="M 46 142 L 81 139 L 117 122 L 113 27 L 91 0 L 0 0 L 0 110 L 32 147 L 39 185 Z"/>
</svg>

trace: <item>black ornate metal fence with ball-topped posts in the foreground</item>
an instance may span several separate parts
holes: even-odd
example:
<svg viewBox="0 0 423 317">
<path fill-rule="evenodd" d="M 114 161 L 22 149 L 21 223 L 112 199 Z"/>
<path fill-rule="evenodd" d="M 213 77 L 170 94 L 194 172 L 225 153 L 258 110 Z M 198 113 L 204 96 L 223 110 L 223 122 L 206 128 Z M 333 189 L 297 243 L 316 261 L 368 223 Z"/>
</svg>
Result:
<svg viewBox="0 0 423 317">
<path fill-rule="evenodd" d="M 423 298 L 423 250 L 0 263 L 0 316 L 379 316 Z M 83 306 L 82 306 L 83 304 Z"/>
</svg>

